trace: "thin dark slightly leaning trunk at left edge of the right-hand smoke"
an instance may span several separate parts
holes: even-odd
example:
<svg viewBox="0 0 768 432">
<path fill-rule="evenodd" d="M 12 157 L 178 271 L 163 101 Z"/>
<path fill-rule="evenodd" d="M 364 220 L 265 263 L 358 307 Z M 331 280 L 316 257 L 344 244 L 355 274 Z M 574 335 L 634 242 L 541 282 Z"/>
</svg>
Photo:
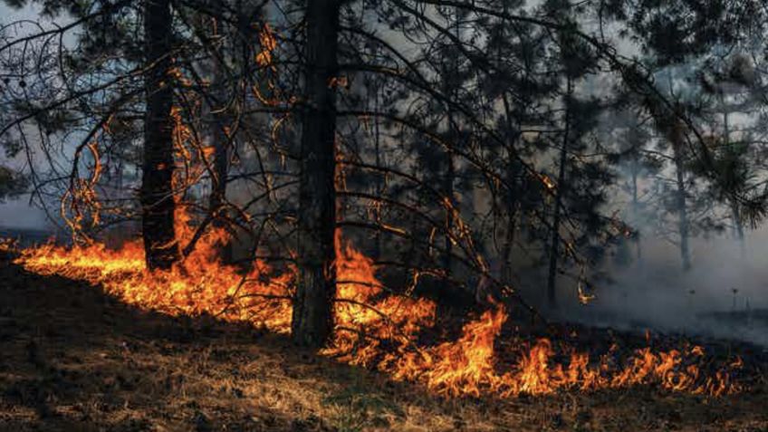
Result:
<svg viewBox="0 0 768 432">
<path fill-rule="evenodd" d="M 547 274 L 547 302 L 550 308 L 557 308 L 557 261 L 560 254 L 560 223 L 562 216 L 562 195 L 565 189 L 565 165 L 568 162 L 568 143 L 571 139 L 571 79 L 568 79 L 565 96 L 565 125 L 562 132 L 562 148 L 560 149 L 560 168 L 557 174 L 557 188 L 554 196 L 554 211 L 552 215 L 552 237 L 550 238 L 550 267 Z"/>
</svg>

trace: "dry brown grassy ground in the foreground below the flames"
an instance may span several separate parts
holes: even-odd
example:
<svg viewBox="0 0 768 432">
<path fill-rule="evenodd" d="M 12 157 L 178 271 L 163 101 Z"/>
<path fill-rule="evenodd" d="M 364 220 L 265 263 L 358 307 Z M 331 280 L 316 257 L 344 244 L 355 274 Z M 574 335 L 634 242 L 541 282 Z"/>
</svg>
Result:
<svg viewBox="0 0 768 432">
<path fill-rule="evenodd" d="M 0 257 L 0 431 L 768 431 L 768 391 L 446 400 L 283 337 L 142 312 Z"/>
</svg>

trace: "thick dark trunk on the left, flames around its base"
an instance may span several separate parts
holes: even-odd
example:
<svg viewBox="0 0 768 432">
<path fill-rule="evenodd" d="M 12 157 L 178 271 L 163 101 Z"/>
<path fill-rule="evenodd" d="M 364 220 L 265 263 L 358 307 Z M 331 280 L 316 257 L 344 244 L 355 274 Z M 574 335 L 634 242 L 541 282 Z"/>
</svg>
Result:
<svg viewBox="0 0 768 432">
<path fill-rule="evenodd" d="M 169 0 L 144 2 L 147 72 L 144 75 L 147 112 L 144 120 L 144 160 L 139 201 L 144 252 L 150 270 L 168 269 L 179 259 L 174 230 L 172 23 Z"/>
</svg>

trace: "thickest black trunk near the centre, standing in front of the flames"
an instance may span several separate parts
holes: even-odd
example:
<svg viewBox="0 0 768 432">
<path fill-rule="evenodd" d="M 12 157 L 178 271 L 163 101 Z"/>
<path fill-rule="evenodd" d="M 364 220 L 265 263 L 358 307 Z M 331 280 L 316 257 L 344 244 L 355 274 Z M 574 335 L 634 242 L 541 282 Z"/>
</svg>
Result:
<svg viewBox="0 0 768 432">
<path fill-rule="evenodd" d="M 321 347 L 333 330 L 336 269 L 335 77 L 339 1 L 309 0 L 306 10 L 304 103 L 299 179 L 299 281 L 293 341 Z"/>
</svg>

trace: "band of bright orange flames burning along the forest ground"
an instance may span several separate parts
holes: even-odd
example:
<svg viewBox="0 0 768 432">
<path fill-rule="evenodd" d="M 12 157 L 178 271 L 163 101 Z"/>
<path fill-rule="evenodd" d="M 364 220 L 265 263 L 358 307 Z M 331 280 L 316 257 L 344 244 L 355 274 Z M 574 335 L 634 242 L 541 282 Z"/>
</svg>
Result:
<svg viewBox="0 0 768 432">
<path fill-rule="evenodd" d="M 204 236 L 196 252 L 168 273 L 145 269 L 140 241 L 119 250 L 100 244 L 42 245 L 20 251 L 16 262 L 36 274 L 99 284 L 139 308 L 170 315 L 206 314 L 289 332 L 295 269 L 278 272 L 257 261 L 244 274 L 220 264 L 215 251 L 221 238 L 216 233 Z M 389 293 L 379 283 L 372 260 L 341 236 L 336 243 L 338 327 L 331 347 L 322 353 L 337 360 L 420 382 L 446 397 L 632 386 L 721 396 L 747 387 L 746 368 L 737 355 L 713 360 L 704 348 L 685 341 L 660 349 L 648 340 L 647 346 L 634 350 L 619 343 L 603 350 L 578 350 L 567 338 L 509 331 L 502 305 L 466 322 L 456 340 L 425 343 L 420 335 L 434 327 L 435 303 Z"/>
</svg>

